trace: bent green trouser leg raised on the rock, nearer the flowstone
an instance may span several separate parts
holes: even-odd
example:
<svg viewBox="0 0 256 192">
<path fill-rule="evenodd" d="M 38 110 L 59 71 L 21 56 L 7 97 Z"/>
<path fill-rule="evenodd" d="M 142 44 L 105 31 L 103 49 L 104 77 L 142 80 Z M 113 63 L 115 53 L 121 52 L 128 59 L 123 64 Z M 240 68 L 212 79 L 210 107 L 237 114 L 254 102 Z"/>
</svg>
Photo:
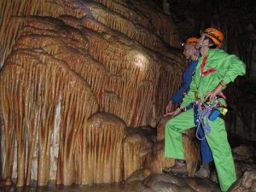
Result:
<svg viewBox="0 0 256 192">
<path fill-rule="evenodd" d="M 184 160 L 182 132 L 195 126 L 194 110 L 178 114 L 166 123 L 165 157 Z"/>
</svg>

